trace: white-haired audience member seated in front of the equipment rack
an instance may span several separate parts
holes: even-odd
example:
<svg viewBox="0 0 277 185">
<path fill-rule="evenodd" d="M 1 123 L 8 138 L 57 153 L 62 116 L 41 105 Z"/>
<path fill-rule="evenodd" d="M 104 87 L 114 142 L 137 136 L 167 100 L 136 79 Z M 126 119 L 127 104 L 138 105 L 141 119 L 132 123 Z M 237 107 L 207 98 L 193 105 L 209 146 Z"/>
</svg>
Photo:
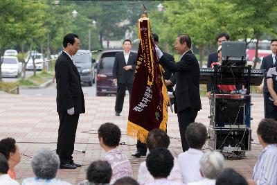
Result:
<svg viewBox="0 0 277 185">
<path fill-rule="evenodd" d="M 200 159 L 200 173 L 204 179 L 190 182 L 188 185 L 215 185 L 216 177 L 224 168 L 224 157 L 220 152 L 210 151 L 204 153 Z"/>
</svg>

